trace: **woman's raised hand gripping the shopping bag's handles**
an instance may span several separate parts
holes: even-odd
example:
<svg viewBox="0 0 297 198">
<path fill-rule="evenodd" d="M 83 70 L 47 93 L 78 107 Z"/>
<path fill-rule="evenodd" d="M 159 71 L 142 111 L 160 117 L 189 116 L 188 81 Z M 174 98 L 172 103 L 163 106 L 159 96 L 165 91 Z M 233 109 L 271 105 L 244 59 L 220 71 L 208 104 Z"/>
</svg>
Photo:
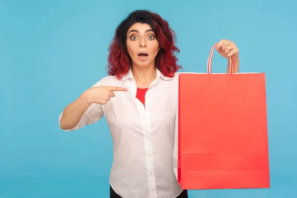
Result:
<svg viewBox="0 0 297 198">
<path fill-rule="evenodd" d="M 221 40 L 216 46 L 219 54 L 225 58 L 233 57 L 233 61 L 236 62 L 239 58 L 239 49 L 233 41 Z"/>
</svg>

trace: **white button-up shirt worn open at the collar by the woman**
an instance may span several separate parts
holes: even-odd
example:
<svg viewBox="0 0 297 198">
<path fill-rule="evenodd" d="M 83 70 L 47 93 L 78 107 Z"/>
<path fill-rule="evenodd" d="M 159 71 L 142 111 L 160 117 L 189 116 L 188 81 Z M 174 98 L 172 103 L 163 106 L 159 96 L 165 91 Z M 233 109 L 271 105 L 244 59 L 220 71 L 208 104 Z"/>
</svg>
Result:
<svg viewBox="0 0 297 198">
<path fill-rule="evenodd" d="M 93 103 L 78 125 L 66 131 L 97 122 L 104 114 L 113 140 L 113 190 L 122 198 L 176 198 L 183 191 L 173 171 L 178 73 L 169 78 L 156 71 L 145 107 L 136 98 L 131 70 L 122 79 L 107 76 L 94 86 L 102 85 L 126 87 L 128 92 L 114 92 L 115 98 L 104 105 Z"/>
</svg>

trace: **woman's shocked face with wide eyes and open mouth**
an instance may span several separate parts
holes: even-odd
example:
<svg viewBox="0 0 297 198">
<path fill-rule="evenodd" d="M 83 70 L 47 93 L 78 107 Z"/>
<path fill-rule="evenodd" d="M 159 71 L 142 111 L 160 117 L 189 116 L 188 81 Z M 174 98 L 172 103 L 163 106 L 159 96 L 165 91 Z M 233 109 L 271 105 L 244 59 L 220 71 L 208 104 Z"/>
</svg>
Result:
<svg viewBox="0 0 297 198">
<path fill-rule="evenodd" d="M 148 24 L 135 23 L 127 32 L 127 51 L 133 65 L 154 66 L 159 44 Z"/>
</svg>

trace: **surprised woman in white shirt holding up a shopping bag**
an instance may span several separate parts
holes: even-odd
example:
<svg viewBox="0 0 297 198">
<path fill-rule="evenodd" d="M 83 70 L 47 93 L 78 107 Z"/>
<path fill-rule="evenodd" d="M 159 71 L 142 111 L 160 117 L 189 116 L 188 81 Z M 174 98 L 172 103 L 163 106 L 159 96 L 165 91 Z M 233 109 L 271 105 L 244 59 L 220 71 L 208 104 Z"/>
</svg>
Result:
<svg viewBox="0 0 297 198">
<path fill-rule="evenodd" d="M 222 40 L 217 50 L 233 56 L 238 72 L 235 44 Z M 174 32 L 158 14 L 137 10 L 119 24 L 109 52 L 109 76 L 64 109 L 60 127 L 77 130 L 105 115 L 113 140 L 110 198 L 187 198 L 173 172 L 181 68 Z"/>
</svg>

